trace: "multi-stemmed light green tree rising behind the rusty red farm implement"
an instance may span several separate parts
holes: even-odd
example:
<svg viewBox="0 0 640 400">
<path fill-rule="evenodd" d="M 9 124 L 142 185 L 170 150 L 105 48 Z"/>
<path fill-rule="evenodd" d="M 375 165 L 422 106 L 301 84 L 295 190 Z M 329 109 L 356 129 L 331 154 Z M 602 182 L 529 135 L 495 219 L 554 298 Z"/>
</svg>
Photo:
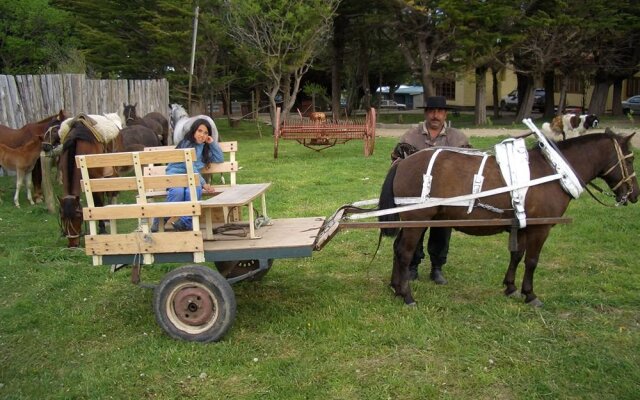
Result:
<svg viewBox="0 0 640 400">
<path fill-rule="evenodd" d="M 264 76 L 271 121 L 281 93 L 283 118 L 293 107 L 302 76 L 331 32 L 339 0 L 225 0 L 229 35 Z"/>
</svg>

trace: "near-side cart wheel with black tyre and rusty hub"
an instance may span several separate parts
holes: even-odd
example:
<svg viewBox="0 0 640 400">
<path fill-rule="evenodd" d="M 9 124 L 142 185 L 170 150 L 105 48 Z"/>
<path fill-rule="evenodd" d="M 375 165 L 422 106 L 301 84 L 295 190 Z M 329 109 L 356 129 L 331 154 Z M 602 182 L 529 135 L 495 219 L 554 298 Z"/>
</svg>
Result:
<svg viewBox="0 0 640 400">
<path fill-rule="evenodd" d="M 153 311 L 174 339 L 217 342 L 233 325 L 236 298 L 217 271 L 188 265 L 165 275 L 153 293 Z"/>
</svg>

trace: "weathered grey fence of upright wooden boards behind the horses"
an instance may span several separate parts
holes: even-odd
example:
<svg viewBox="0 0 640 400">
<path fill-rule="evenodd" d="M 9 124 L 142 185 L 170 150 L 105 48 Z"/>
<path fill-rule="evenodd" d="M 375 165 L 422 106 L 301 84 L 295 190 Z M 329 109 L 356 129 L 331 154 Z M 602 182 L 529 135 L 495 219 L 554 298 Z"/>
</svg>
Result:
<svg viewBox="0 0 640 400">
<path fill-rule="evenodd" d="M 0 75 L 0 124 L 20 128 L 61 109 L 79 113 L 117 112 L 123 103 L 136 104 L 138 116 L 157 111 L 169 118 L 166 79 L 88 79 L 82 74 Z"/>
</svg>

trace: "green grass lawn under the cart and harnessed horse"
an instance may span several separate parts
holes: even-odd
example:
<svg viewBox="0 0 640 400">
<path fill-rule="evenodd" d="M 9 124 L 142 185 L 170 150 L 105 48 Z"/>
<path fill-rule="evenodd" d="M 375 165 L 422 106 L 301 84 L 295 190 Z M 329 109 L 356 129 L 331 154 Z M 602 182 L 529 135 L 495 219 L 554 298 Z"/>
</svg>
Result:
<svg viewBox="0 0 640 400">
<path fill-rule="evenodd" d="M 272 217 L 329 216 L 378 196 L 393 138 L 314 152 L 267 129 L 230 130 L 239 181 L 273 182 Z M 476 138 L 489 148 L 500 138 Z M 636 160 L 640 159 L 637 157 Z M 636 169 L 638 169 L 636 162 Z M 3 399 L 633 399 L 640 393 L 640 207 L 574 201 L 544 247 L 533 309 L 501 294 L 506 234 L 454 233 L 449 285 L 388 289 L 390 239 L 344 231 L 311 258 L 276 260 L 234 286 L 236 322 L 216 344 L 176 341 L 129 270 L 65 249 L 55 215 L 13 206 L 0 178 L 0 398 Z M 606 201 L 606 200 L 605 200 Z M 172 266 L 145 267 L 158 281 Z M 423 276 L 426 275 L 423 273 Z M 518 279 L 521 279 L 522 268 Z"/>
</svg>

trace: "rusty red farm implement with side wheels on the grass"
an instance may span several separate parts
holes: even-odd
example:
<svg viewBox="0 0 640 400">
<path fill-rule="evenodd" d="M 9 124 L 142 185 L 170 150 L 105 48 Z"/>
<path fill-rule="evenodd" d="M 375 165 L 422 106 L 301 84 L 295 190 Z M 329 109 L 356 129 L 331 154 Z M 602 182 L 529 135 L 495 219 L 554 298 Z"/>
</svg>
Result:
<svg viewBox="0 0 640 400">
<path fill-rule="evenodd" d="M 273 158 L 278 158 L 279 141 L 285 139 L 296 140 L 316 151 L 359 139 L 364 142 L 365 157 L 373 154 L 376 140 L 375 108 L 370 108 L 364 119 L 353 120 L 284 120 L 281 116 L 278 108 L 273 130 Z"/>
</svg>

